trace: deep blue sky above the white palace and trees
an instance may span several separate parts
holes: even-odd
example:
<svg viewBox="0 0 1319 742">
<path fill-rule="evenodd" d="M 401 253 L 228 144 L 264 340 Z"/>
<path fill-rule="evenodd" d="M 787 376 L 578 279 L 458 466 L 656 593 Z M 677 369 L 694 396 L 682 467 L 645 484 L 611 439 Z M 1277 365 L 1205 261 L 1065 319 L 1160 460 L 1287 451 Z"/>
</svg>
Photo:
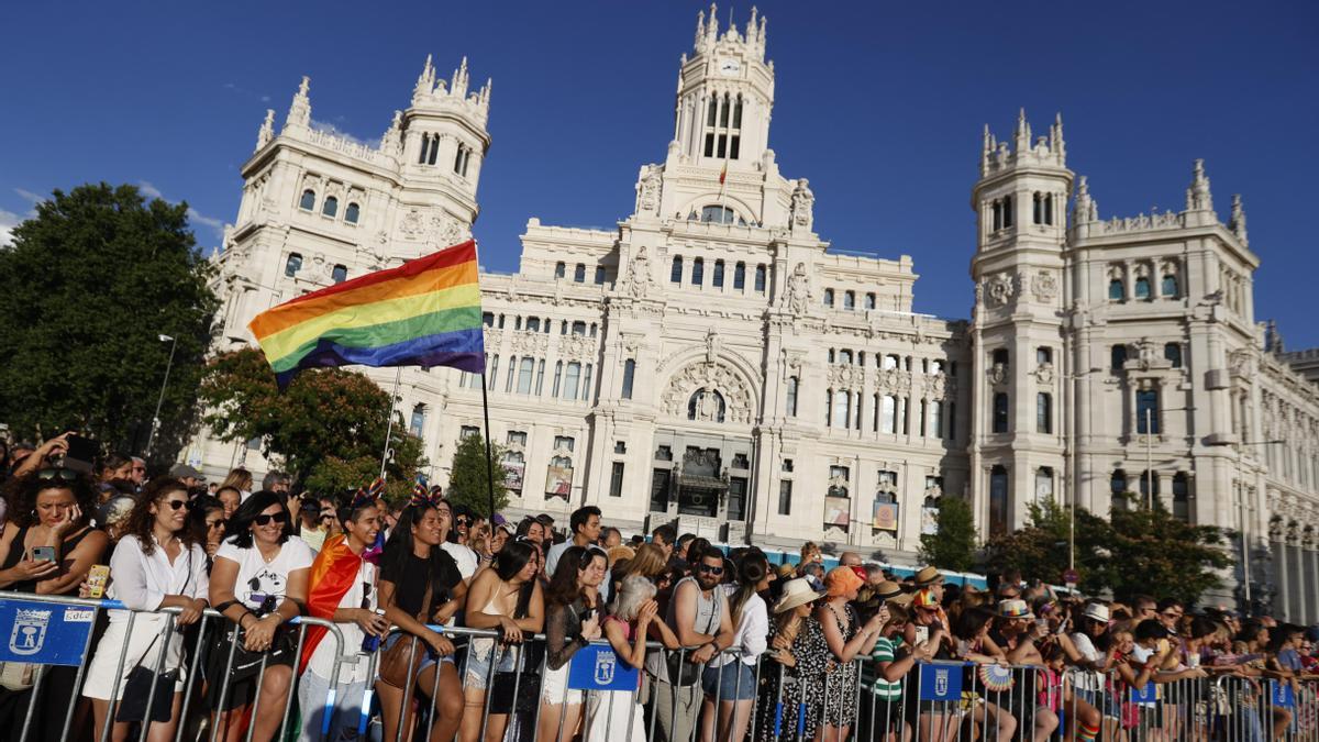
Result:
<svg viewBox="0 0 1319 742">
<path fill-rule="evenodd" d="M 233 220 L 264 110 L 301 75 L 313 119 L 376 139 L 426 54 L 495 78 L 476 235 L 517 267 L 528 217 L 608 227 L 637 166 L 663 158 L 678 58 L 699 3 L 25 3 L 0 44 L 0 230 L 84 181 L 194 209 L 199 242 Z M 733 12 L 744 24 L 751 3 Z M 1206 158 L 1225 219 L 1241 193 L 1257 318 L 1319 346 L 1319 4 L 799 3 L 768 0 L 770 145 L 809 177 L 836 248 L 911 255 L 921 312 L 966 317 L 980 132 L 1062 111 L 1068 165 L 1100 217 L 1179 209 Z M 719 11 L 727 22 L 728 4 Z"/>
</svg>

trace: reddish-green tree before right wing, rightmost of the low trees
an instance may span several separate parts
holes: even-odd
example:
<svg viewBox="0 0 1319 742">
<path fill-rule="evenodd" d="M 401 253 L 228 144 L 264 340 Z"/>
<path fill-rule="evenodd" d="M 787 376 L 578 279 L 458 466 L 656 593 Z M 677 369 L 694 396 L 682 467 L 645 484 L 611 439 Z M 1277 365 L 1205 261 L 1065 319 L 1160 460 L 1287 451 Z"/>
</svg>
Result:
<svg viewBox="0 0 1319 742">
<path fill-rule="evenodd" d="M 1192 605 L 1200 594 L 1221 586 L 1220 573 L 1233 564 L 1223 531 L 1191 525 L 1155 499 L 1149 508 L 1126 494 L 1109 512 L 1113 595 L 1136 594 L 1177 598 Z"/>
</svg>

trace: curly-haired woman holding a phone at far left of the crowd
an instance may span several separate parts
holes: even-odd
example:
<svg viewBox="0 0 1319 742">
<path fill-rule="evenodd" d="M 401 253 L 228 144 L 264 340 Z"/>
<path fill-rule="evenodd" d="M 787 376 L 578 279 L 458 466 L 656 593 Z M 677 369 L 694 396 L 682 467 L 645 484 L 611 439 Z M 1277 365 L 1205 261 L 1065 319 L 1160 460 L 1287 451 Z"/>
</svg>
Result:
<svg viewBox="0 0 1319 742">
<path fill-rule="evenodd" d="M 107 539 L 88 524 L 96 508 L 90 479 L 71 469 L 41 469 L 12 483 L 9 522 L 0 536 L 0 590 L 77 595 Z M 59 739 L 74 706 L 77 667 L 47 667 L 29 739 Z M 0 689 L 0 729 L 20 729 L 32 689 Z"/>
</svg>

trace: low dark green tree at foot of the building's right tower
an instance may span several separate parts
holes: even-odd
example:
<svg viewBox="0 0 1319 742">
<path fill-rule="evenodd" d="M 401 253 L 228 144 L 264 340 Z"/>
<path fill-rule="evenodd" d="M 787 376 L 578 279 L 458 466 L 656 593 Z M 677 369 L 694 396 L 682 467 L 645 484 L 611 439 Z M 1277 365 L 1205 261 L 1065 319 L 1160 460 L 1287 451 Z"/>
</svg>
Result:
<svg viewBox="0 0 1319 742">
<path fill-rule="evenodd" d="M 1046 500 L 1030 506 L 1025 528 L 995 536 L 985 544 L 985 569 L 1021 572 L 1026 580 L 1060 585 L 1070 564 L 1070 514 L 1066 507 Z M 1076 572 L 1082 593 L 1097 594 L 1109 588 L 1112 528 L 1086 508 L 1076 508 Z"/>
</svg>

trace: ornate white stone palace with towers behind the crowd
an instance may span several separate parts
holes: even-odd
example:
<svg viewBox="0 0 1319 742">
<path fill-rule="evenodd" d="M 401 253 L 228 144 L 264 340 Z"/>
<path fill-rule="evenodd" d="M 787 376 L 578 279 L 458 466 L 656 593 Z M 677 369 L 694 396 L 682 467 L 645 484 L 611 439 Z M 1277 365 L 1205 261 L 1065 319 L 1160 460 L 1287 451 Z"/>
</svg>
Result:
<svg viewBox="0 0 1319 742">
<path fill-rule="evenodd" d="M 427 59 L 379 148 L 311 129 L 306 81 L 278 135 L 270 112 L 218 257 L 218 347 L 251 342 L 274 304 L 464 239 L 489 91 L 468 91 L 466 61 L 437 82 Z M 514 510 L 595 503 L 624 527 L 901 560 L 939 496 L 969 498 L 989 536 L 1037 499 L 1105 512 L 1115 491 L 1150 492 L 1195 523 L 1244 523 L 1256 597 L 1277 584 L 1279 610 L 1319 618 L 1319 389 L 1265 351 L 1239 199 L 1219 223 L 1196 164 L 1184 210 L 1100 220 L 1062 121 L 1037 140 L 1022 115 L 1010 143 L 985 132 L 973 316 L 923 316 L 909 256 L 820 236 L 806 178 L 769 148 L 773 102 L 765 20 L 702 17 L 633 214 L 611 230 L 532 218 L 518 271 L 483 273 Z M 433 481 L 481 429 L 480 383 L 402 375 L 397 411 Z M 265 467 L 204 437 L 189 455 Z"/>
</svg>

